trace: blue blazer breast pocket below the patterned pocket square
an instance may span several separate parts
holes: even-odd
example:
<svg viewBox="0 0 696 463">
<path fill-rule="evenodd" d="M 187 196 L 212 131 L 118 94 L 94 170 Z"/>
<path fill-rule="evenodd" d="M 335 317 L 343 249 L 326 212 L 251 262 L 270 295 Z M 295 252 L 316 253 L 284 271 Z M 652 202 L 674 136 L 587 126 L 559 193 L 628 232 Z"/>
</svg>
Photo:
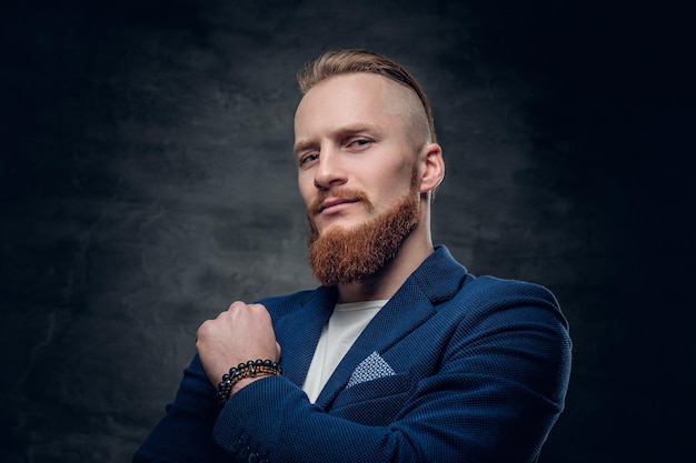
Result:
<svg viewBox="0 0 696 463">
<path fill-rule="evenodd" d="M 384 426 L 401 410 L 410 390 L 407 373 L 366 381 L 341 391 L 328 412 L 356 423 Z"/>
</svg>

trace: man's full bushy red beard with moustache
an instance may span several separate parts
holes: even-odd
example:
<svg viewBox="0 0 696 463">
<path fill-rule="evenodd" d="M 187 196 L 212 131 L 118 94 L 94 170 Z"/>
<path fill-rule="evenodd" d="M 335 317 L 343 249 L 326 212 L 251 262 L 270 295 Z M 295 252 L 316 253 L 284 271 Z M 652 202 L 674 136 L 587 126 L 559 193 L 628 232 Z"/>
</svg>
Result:
<svg viewBox="0 0 696 463">
<path fill-rule="evenodd" d="M 350 229 L 335 227 L 321 234 L 311 221 L 316 205 L 308 208 L 309 264 L 315 278 L 325 286 L 365 281 L 375 275 L 398 253 L 404 240 L 418 225 L 419 195 L 417 171 L 409 193 L 379 217 Z M 341 197 L 360 198 L 372 209 L 361 192 L 341 192 Z M 319 199 L 319 202 L 321 198 Z M 315 202 L 317 204 L 317 202 Z"/>
</svg>

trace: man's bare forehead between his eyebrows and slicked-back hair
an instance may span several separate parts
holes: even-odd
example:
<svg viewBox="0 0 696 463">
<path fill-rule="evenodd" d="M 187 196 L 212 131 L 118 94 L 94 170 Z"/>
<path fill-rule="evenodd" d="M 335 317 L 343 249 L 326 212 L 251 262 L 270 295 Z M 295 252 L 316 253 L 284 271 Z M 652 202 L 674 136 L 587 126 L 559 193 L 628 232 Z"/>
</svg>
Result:
<svg viewBox="0 0 696 463">
<path fill-rule="evenodd" d="M 336 124 L 402 122 L 415 99 L 410 89 L 382 76 L 332 77 L 312 87 L 298 104 L 295 134 Z"/>
</svg>

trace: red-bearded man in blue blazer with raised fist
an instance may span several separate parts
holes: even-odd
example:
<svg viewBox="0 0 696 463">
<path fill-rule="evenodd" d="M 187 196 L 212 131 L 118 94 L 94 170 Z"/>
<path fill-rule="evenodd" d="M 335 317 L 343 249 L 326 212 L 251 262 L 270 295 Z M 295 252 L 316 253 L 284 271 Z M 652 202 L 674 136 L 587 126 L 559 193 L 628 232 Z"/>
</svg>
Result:
<svg viewBox="0 0 696 463">
<path fill-rule="evenodd" d="M 570 371 L 556 299 L 475 278 L 432 245 L 445 162 L 407 70 L 341 50 L 298 80 L 294 154 L 321 285 L 202 323 L 133 462 L 536 461 Z"/>
</svg>

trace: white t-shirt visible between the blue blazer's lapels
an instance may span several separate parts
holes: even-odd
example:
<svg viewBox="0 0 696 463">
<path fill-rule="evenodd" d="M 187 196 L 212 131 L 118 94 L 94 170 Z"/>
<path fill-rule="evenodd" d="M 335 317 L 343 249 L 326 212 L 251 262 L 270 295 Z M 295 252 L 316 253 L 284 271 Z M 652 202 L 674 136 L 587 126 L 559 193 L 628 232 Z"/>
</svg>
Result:
<svg viewBox="0 0 696 463">
<path fill-rule="evenodd" d="M 321 331 L 321 338 L 319 338 L 302 385 L 311 403 L 317 401 L 319 393 L 346 352 L 386 303 L 387 300 L 336 304 L 329 322 Z"/>
</svg>

